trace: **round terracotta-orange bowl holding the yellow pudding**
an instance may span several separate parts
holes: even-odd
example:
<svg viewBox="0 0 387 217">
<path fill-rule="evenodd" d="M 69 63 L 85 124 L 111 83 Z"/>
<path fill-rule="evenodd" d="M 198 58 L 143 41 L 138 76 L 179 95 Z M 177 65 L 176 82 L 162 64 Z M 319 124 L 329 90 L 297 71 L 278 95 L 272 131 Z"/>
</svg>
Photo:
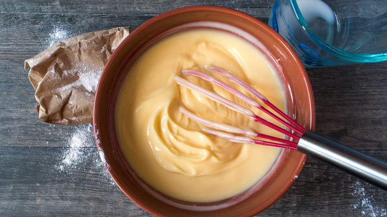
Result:
<svg viewBox="0 0 387 217">
<path fill-rule="evenodd" d="M 190 6 L 160 14 L 136 28 L 112 54 L 102 72 L 94 101 L 94 135 L 106 169 L 117 186 L 138 206 L 155 216 L 253 216 L 277 201 L 300 173 L 306 156 L 282 150 L 270 174 L 258 185 L 235 197 L 211 203 L 190 203 L 169 198 L 147 185 L 131 168 L 116 134 L 116 101 L 120 87 L 136 58 L 152 43 L 177 31 L 217 28 L 216 22 L 248 40 L 264 45 L 266 57 L 276 68 L 284 85 L 287 110 L 298 123 L 314 130 L 315 106 L 311 85 L 297 54 L 269 26 L 237 10 L 219 6 Z M 204 24 L 203 24 L 204 23 Z M 221 25 L 222 26 L 222 25 Z M 220 28 L 220 27 L 219 27 Z"/>
</svg>

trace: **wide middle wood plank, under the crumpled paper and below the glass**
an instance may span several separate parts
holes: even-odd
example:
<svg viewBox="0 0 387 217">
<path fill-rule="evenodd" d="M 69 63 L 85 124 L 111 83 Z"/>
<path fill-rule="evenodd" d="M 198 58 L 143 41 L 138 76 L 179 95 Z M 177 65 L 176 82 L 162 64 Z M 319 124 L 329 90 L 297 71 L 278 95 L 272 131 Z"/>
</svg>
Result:
<svg viewBox="0 0 387 217">
<path fill-rule="evenodd" d="M 50 126 L 37 117 L 34 90 L 23 61 L 62 38 L 129 25 L 151 16 L 0 14 L 0 146 L 45 146 L 71 127 Z M 90 23 L 85 25 L 85 23 Z M 18 31 L 23 30 L 23 31 Z M 18 34 L 16 34 L 18 33 Z M 5 40 L 6 39 L 6 40 Z M 308 69 L 316 102 L 316 130 L 355 149 L 385 149 L 387 142 L 387 63 Z M 23 121 L 19 121 L 23 119 Z M 42 137 L 51 133 L 50 137 Z M 52 146 L 62 146 L 58 143 Z"/>
</svg>

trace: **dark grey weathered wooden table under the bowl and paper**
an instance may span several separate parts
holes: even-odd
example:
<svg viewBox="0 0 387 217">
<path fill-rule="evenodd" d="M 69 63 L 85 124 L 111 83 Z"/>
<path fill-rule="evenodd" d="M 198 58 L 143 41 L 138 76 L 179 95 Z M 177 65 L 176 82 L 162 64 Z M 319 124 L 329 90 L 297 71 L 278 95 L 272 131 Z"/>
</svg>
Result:
<svg viewBox="0 0 387 217">
<path fill-rule="evenodd" d="M 266 0 L 4 0 L 0 4 L 0 216 L 150 216 L 113 183 L 91 124 L 38 118 L 25 59 L 80 33 L 139 26 L 170 9 L 212 4 L 267 22 Z M 387 62 L 308 69 L 316 132 L 387 161 Z M 84 139 L 71 148 L 71 139 Z M 387 216 L 386 191 L 309 158 L 261 216 Z"/>
</svg>

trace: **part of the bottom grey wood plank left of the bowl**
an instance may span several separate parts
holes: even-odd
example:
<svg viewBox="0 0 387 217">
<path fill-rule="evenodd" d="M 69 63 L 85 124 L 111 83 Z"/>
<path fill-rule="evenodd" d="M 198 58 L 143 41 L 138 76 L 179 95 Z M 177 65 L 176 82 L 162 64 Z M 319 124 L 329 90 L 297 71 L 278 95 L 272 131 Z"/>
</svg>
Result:
<svg viewBox="0 0 387 217">
<path fill-rule="evenodd" d="M 65 164 L 68 150 L 0 148 L 0 215 L 148 216 L 112 183 L 96 148 Z"/>
</svg>

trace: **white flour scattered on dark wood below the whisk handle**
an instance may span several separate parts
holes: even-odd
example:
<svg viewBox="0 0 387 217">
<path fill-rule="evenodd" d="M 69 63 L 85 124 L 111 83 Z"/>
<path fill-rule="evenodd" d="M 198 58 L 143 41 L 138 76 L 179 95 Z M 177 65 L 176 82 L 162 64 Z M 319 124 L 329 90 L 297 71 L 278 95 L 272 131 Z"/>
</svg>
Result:
<svg viewBox="0 0 387 217">
<path fill-rule="evenodd" d="M 387 217 L 387 207 L 376 207 L 375 199 L 373 194 L 365 189 L 367 185 L 362 184 L 360 181 L 356 181 L 355 185 L 352 186 L 354 191 L 352 195 L 358 198 L 360 201 L 353 204 L 353 209 L 359 210 L 363 216 L 369 217 Z"/>
</svg>

